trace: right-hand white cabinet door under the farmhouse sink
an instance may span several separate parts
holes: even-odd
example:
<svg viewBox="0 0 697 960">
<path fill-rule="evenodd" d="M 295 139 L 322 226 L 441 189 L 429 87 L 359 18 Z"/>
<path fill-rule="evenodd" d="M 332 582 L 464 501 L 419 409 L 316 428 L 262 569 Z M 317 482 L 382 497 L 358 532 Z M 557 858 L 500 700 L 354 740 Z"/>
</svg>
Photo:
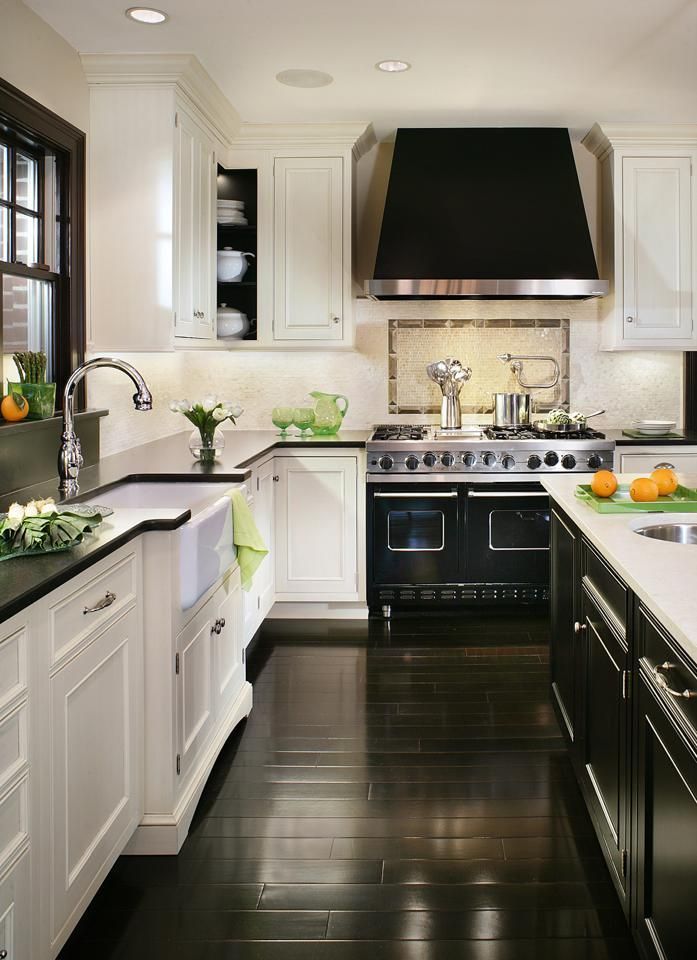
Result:
<svg viewBox="0 0 697 960">
<path fill-rule="evenodd" d="M 218 594 L 221 594 L 218 597 Z M 213 683 L 215 715 L 220 719 L 244 683 L 242 663 L 242 587 L 239 570 L 216 593 L 213 622 Z"/>
</svg>

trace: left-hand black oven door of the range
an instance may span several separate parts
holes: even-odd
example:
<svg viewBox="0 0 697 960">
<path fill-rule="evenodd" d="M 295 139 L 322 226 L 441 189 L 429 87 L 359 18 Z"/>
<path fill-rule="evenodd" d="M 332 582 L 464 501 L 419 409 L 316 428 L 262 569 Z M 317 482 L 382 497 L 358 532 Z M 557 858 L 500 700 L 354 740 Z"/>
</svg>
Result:
<svg viewBox="0 0 697 960">
<path fill-rule="evenodd" d="M 374 583 L 458 582 L 461 496 L 456 486 L 434 486 L 368 486 Z"/>
</svg>

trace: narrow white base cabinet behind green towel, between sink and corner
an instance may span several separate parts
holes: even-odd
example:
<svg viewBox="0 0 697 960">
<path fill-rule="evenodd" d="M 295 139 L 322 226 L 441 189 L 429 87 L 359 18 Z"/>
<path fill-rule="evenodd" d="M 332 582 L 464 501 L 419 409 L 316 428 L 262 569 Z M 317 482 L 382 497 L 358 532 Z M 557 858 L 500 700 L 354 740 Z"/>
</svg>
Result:
<svg viewBox="0 0 697 960">
<path fill-rule="evenodd" d="M 250 590 L 242 593 L 244 603 L 244 645 L 247 646 L 271 610 L 275 591 L 274 547 L 274 460 L 256 467 L 252 474 L 250 508 L 261 538 L 269 551 L 256 569 Z"/>
</svg>

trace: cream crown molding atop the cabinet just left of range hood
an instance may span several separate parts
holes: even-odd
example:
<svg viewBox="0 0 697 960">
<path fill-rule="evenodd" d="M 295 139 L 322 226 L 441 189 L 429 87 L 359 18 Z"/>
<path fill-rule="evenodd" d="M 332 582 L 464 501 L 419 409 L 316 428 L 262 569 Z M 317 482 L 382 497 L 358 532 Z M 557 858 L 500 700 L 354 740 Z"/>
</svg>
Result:
<svg viewBox="0 0 697 960">
<path fill-rule="evenodd" d="M 350 148 L 356 160 L 359 160 L 376 143 L 372 123 L 365 120 L 345 120 L 335 123 L 243 123 L 233 147 L 274 150 L 278 147 L 333 144 Z"/>
</svg>

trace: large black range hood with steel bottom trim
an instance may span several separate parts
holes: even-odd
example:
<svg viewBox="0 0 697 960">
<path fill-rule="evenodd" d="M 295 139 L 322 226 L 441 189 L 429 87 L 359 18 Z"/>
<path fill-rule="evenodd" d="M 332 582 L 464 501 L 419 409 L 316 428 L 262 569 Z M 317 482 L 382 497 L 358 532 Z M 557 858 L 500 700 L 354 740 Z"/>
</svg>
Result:
<svg viewBox="0 0 697 960">
<path fill-rule="evenodd" d="M 568 130 L 398 130 L 366 292 L 378 300 L 604 296 Z"/>
</svg>

